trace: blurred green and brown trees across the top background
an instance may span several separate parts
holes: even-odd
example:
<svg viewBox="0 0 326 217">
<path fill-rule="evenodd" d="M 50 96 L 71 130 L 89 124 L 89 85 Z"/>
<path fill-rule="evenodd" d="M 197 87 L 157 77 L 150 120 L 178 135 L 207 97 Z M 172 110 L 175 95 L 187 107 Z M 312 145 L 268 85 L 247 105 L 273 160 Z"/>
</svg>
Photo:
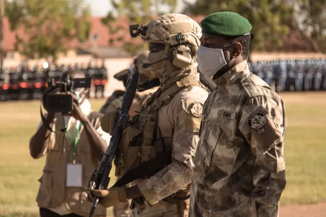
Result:
<svg viewBox="0 0 326 217">
<path fill-rule="evenodd" d="M 108 44 L 123 42 L 134 55 L 146 49 L 146 44 L 125 37 L 128 25 L 119 23 L 118 18 L 145 24 L 165 13 L 205 16 L 219 11 L 233 11 L 249 19 L 255 36 L 253 50 L 277 51 L 283 38 L 295 32 L 313 51 L 326 52 L 326 0 L 182 0 L 182 11 L 176 11 L 180 0 L 108 1 L 112 10 L 102 18 L 110 35 Z M 5 15 L 12 31 L 23 31 L 28 36 L 16 36 L 16 50 L 28 59 L 56 59 L 72 40 L 83 43 L 90 37 L 90 7 L 82 0 L 11 0 L 5 3 Z"/>
</svg>

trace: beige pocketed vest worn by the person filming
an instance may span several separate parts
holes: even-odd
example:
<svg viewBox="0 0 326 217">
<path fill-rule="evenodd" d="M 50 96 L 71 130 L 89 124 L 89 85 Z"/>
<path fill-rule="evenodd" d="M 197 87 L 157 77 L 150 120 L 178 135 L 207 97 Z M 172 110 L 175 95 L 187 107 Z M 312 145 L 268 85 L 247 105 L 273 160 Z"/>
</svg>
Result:
<svg viewBox="0 0 326 217">
<path fill-rule="evenodd" d="M 88 116 L 91 124 L 97 129 L 100 127 L 101 114 L 91 112 Z M 67 164 L 73 162 L 73 152 L 65 132 L 59 132 L 64 127 L 61 116 L 56 116 L 52 129 L 58 132 L 51 133 L 47 145 L 46 162 L 41 183 L 36 198 L 39 207 L 55 208 L 67 203 L 70 210 L 78 215 L 89 216 L 92 203 L 86 201 L 88 181 L 99 161 L 92 157 L 84 126 L 80 129 L 77 143 L 76 164 L 83 165 L 83 187 L 66 187 Z M 106 216 L 106 209 L 97 206 L 94 216 Z"/>
</svg>

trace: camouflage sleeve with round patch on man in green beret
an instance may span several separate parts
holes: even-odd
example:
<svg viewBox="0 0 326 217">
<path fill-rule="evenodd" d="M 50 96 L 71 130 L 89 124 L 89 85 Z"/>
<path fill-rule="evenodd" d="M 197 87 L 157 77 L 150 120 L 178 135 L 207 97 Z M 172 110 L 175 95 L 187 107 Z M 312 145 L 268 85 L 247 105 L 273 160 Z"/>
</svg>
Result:
<svg viewBox="0 0 326 217">
<path fill-rule="evenodd" d="M 277 216 L 284 191 L 283 158 L 286 115 L 284 103 L 258 96 L 244 105 L 239 130 L 251 145 L 255 156 L 252 198 L 255 216 Z"/>
</svg>

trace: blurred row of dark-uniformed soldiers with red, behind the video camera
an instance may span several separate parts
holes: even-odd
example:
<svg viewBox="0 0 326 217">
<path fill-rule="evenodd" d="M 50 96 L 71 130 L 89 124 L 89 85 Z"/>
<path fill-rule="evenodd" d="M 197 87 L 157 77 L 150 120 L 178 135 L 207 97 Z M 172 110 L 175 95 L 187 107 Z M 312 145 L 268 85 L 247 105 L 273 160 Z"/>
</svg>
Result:
<svg viewBox="0 0 326 217">
<path fill-rule="evenodd" d="M 54 79 L 59 81 L 60 76 L 69 69 L 84 71 L 87 77 L 92 77 L 91 94 L 94 97 L 104 97 L 107 83 L 107 70 L 102 65 L 74 64 L 55 65 L 44 63 L 30 67 L 27 64 L 18 67 L 3 68 L 0 72 L 0 101 L 18 99 L 40 99 L 47 88 L 47 82 Z M 90 97 L 90 96 L 88 96 Z"/>
</svg>

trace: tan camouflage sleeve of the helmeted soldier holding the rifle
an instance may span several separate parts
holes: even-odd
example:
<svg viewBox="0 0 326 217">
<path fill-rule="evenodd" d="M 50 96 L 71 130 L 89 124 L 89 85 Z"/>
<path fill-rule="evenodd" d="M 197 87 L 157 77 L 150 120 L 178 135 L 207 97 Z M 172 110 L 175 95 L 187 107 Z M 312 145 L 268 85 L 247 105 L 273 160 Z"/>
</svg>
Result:
<svg viewBox="0 0 326 217">
<path fill-rule="evenodd" d="M 180 103 L 173 107 L 172 118 L 175 131 L 172 142 L 172 162 L 138 185 L 150 204 L 158 203 L 191 182 L 195 167 L 193 157 L 199 141 L 202 104 L 206 98 L 207 95 L 201 99 L 196 97 L 193 100 L 179 100 Z M 197 111 L 193 110 L 195 115 L 189 111 L 189 106 L 193 106 L 191 102 L 194 100 L 197 103 Z"/>
</svg>

